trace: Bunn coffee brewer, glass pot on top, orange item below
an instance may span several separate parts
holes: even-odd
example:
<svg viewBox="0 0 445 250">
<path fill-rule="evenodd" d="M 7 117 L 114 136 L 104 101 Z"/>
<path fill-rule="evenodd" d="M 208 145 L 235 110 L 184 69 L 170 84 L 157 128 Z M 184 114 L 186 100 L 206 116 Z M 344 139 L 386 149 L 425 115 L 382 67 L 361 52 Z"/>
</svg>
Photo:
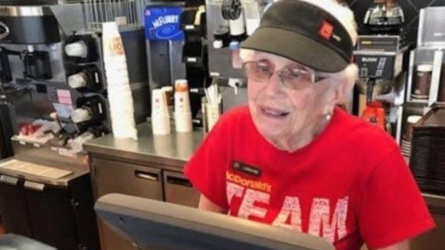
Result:
<svg viewBox="0 0 445 250">
<path fill-rule="evenodd" d="M 353 53 L 359 67 L 354 113 L 395 134 L 390 125 L 396 123 L 397 107 L 403 104 L 411 46 L 404 12 L 392 0 L 374 0 L 363 22 L 365 29 Z"/>
</svg>

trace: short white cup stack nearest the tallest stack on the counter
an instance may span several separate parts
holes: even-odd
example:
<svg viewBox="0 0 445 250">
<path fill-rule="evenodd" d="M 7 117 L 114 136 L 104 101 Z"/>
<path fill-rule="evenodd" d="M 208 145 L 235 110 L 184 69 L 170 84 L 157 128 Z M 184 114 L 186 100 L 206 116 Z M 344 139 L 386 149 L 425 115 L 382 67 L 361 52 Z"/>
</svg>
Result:
<svg viewBox="0 0 445 250">
<path fill-rule="evenodd" d="M 152 91 L 151 121 L 153 134 L 170 133 L 170 118 L 168 115 L 167 98 L 162 89 Z"/>
</svg>

